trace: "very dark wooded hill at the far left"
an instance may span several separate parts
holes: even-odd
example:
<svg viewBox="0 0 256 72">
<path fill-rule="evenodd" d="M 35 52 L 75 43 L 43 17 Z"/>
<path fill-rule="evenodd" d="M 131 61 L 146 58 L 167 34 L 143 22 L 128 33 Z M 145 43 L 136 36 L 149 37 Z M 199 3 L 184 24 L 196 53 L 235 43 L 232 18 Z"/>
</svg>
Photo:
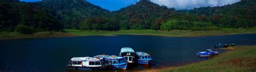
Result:
<svg viewBox="0 0 256 72">
<path fill-rule="evenodd" d="M 47 9 L 31 3 L 0 3 L 0 31 L 19 31 L 32 34 L 36 31 L 59 31 L 62 25 Z"/>
</svg>

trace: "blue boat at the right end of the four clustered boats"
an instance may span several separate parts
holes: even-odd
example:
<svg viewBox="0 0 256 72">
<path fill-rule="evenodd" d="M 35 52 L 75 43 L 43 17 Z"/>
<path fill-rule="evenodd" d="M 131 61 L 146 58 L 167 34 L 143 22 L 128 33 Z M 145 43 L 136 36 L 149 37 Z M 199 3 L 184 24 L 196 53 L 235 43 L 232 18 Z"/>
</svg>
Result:
<svg viewBox="0 0 256 72">
<path fill-rule="evenodd" d="M 150 54 L 145 52 L 135 52 L 135 58 L 137 59 L 138 64 L 145 65 L 146 67 L 149 67 L 150 61 L 152 60 Z"/>
</svg>

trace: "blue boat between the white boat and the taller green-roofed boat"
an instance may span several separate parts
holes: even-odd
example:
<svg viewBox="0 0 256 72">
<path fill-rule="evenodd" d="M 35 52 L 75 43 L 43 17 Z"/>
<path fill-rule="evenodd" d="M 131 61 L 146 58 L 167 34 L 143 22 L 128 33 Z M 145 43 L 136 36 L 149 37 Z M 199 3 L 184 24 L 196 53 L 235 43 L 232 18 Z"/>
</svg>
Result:
<svg viewBox="0 0 256 72">
<path fill-rule="evenodd" d="M 127 63 L 124 57 L 117 57 L 116 55 L 96 55 L 96 58 L 105 58 L 105 62 L 110 64 L 109 69 L 126 69 Z"/>
</svg>

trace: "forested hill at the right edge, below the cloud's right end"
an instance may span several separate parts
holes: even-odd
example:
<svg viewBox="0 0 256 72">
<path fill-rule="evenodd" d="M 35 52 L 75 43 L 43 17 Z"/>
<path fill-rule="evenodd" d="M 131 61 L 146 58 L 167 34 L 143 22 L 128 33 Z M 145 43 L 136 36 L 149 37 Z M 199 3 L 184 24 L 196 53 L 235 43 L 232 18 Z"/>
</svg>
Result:
<svg viewBox="0 0 256 72">
<path fill-rule="evenodd" d="M 191 14 L 207 15 L 218 27 L 247 28 L 256 26 L 256 1 L 242 0 L 218 7 L 200 7 L 188 11 Z"/>
</svg>

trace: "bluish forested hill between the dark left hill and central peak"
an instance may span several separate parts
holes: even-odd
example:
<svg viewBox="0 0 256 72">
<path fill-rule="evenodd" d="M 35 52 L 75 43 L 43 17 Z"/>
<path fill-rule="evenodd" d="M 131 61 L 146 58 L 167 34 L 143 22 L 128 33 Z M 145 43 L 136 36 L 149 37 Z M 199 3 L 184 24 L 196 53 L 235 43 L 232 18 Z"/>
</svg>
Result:
<svg viewBox="0 0 256 72">
<path fill-rule="evenodd" d="M 53 16 L 65 28 L 78 28 L 79 23 L 91 17 L 105 17 L 110 11 L 93 5 L 86 0 L 43 0 L 35 4 L 52 11 Z"/>
</svg>

